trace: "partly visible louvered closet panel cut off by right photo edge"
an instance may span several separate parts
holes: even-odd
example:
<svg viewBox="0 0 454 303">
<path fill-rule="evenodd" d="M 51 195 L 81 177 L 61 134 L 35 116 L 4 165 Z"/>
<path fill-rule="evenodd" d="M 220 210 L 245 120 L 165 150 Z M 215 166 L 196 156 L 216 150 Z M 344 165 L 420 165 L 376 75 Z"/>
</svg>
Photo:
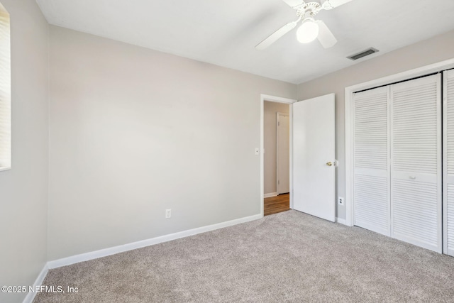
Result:
<svg viewBox="0 0 454 303">
<path fill-rule="evenodd" d="M 454 71 L 443 72 L 443 253 L 454 256 Z"/>
</svg>

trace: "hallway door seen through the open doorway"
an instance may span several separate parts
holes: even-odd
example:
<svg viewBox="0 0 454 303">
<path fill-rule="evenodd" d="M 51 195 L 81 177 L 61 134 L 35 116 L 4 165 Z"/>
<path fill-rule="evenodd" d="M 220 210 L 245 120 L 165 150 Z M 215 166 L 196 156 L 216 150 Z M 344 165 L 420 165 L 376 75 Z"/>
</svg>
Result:
<svg viewBox="0 0 454 303">
<path fill-rule="evenodd" d="M 289 115 L 277 113 L 277 194 L 290 192 Z"/>
</svg>

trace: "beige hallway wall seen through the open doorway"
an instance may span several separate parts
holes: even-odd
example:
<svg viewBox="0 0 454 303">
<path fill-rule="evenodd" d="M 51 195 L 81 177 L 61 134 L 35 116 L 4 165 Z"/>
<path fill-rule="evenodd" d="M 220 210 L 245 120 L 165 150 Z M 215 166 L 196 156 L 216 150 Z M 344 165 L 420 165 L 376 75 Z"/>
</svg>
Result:
<svg viewBox="0 0 454 303">
<path fill-rule="evenodd" d="M 289 104 L 265 101 L 263 107 L 263 138 L 265 147 L 264 194 L 277 192 L 276 188 L 276 113 L 289 114 Z"/>
</svg>

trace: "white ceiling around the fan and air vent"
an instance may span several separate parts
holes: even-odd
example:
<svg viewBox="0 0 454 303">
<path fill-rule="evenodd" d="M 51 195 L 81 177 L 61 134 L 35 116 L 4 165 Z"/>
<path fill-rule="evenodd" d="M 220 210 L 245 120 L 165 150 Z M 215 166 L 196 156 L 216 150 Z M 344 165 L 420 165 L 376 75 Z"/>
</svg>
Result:
<svg viewBox="0 0 454 303">
<path fill-rule="evenodd" d="M 299 84 L 454 29 L 453 0 L 353 0 L 321 11 L 338 39 L 325 50 L 296 29 L 255 45 L 297 19 L 282 0 L 36 0 L 49 23 L 194 60 Z M 380 53 L 346 59 L 366 48 Z"/>
</svg>

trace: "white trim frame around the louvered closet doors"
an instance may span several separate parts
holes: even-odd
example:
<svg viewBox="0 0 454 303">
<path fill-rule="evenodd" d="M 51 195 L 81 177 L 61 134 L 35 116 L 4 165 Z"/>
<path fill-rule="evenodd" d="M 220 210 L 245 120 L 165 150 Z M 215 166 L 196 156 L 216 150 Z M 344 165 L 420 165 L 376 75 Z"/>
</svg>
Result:
<svg viewBox="0 0 454 303">
<path fill-rule="evenodd" d="M 353 93 L 454 68 L 454 59 L 345 87 L 345 225 L 353 226 Z"/>
</svg>

